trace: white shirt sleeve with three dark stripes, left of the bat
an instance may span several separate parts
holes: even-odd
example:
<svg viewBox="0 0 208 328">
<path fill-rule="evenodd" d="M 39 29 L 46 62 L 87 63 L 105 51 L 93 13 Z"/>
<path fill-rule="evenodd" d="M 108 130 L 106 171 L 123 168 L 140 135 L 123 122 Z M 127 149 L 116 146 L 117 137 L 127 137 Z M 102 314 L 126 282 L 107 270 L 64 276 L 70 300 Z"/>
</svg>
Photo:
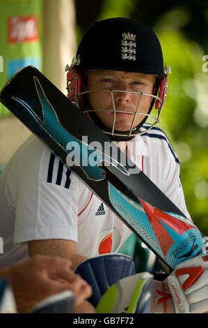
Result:
<svg viewBox="0 0 208 328">
<path fill-rule="evenodd" d="M 77 242 L 79 181 L 47 147 L 39 148 L 30 147 L 26 163 L 22 161 L 14 244 L 35 239 Z"/>
</svg>

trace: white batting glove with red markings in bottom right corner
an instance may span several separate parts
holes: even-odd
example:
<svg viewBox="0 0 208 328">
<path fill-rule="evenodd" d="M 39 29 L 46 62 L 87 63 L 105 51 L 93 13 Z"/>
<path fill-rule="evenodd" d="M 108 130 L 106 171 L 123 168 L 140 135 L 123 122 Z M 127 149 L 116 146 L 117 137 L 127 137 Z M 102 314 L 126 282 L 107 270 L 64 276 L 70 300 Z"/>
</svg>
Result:
<svg viewBox="0 0 208 328">
<path fill-rule="evenodd" d="M 208 255 L 178 264 L 166 281 L 176 313 L 208 311 Z"/>
</svg>

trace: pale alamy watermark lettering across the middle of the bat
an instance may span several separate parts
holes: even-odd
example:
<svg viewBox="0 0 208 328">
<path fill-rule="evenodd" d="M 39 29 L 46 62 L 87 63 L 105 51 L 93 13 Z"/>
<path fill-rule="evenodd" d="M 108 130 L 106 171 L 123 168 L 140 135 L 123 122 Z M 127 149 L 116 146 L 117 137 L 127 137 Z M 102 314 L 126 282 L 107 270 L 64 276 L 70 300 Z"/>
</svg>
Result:
<svg viewBox="0 0 208 328">
<path fill-rule="evenodd" d="M 127 148 L 124 142 L 98 142 L 88 143 L 88 136 L 83 135 L 82 140 L 68 142 L 66 150 L 68 152 L 66 163 L 68 166 L 96 167 L 115 166 L 127 174 L 136 174 L 140 169 L 135 165 L 136 161 L 136 142 L 129 142 Z M 120 150 L 118 149 L 120 148 Z M 131 160 L 123 154 L 131 154 Z"/>
</svg>

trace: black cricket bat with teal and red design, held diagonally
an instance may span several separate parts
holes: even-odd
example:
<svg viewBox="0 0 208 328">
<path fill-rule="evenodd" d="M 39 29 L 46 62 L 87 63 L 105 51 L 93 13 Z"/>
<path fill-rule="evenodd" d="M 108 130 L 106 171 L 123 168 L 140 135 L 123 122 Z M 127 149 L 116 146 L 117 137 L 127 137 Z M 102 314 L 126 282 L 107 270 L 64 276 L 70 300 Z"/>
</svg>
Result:
<svg viewBox="0 0 208 328">
<path fill-rule="evenodd" d="M 202 255 L 200 230 L 36 68 L 12 77 L 0 100 L 170 269 Z"/>
</svg>

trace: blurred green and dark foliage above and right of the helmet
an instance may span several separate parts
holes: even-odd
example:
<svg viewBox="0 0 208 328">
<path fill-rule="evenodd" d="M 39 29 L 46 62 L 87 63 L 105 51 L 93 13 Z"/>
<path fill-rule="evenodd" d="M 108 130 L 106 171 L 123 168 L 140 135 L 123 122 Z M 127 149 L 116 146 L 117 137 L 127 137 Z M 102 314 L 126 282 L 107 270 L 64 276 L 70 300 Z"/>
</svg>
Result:
<svg viewBox="0 0 208 328">
<path fill-rule="evenodd" d="M 179 157 L 186 205 L 208 236 L 208 55 L 206 1 L 77 0 L 77 38 L 96 20 L 130 17 L 157 33 L 171 66 L 159 126 Z M 208 58 L 208 56 L 207 56 Z M 205 59 L 205 58 L 204 58 Z M 206 64 L 207 62 L 207 64 Z"/>
</svg>

